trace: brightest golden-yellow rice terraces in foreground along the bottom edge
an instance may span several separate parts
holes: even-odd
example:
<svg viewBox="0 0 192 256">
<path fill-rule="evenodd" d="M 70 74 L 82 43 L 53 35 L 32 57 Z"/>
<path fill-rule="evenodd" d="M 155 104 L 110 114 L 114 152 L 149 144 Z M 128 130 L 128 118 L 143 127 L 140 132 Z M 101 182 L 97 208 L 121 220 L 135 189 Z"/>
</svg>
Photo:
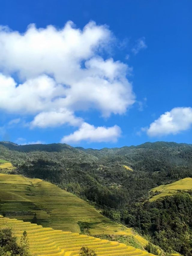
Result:
<svg viewBox="0 0 192 256">
<path fill-rule="evenodd" d="M 69 231 L 53 230 L 0 215 L 0 228 L 4 227 L 11 227 L 18 240 L 26 230 L 29 248 L 34 256 L 78 256 L 82 246 L 94 249 L 98 256 L 154 256 L 147 251 L 119 242 L 101 240 Z"/>
</svg>

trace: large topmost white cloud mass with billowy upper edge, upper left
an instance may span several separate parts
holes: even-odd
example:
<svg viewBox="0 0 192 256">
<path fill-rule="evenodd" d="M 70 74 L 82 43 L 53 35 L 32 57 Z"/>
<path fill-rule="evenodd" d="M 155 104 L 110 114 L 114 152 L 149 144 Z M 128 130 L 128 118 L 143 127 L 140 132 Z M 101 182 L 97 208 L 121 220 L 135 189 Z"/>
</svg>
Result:
<svg viewBox="0 0 192 256">
<path fill-rule="evenodd" d="M 68 84 L 81 76 L 77 73 L 74 77 L 81 61 L 94 56 L 111 39 L 110 30 L 94 22 L 83 30 L 76 29 L 72 22 L 62 29 L 51 25 L 37 29 L 30 24 L 24 34 L 0 27 L 0 66 L 26 78 L 51 74 L 57 82 Z"/>
</svg>

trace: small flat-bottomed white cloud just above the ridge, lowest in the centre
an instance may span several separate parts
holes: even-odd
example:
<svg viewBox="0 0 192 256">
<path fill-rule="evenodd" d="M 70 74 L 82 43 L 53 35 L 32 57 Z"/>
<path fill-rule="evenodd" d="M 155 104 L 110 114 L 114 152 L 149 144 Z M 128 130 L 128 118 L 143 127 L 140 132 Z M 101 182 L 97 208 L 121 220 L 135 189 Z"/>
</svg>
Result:
<svg viewBox="0 0 192 256">
<path fill-rule="evenodd" d="M 121 128 L 117 125 L 113 127 L 95 127 L 84 122 L 79 130 L 64 136 L 62 143 L 78 143 L 82 140 L 89 142 L 116 142 L 121 135 Z"/>
</svg>

